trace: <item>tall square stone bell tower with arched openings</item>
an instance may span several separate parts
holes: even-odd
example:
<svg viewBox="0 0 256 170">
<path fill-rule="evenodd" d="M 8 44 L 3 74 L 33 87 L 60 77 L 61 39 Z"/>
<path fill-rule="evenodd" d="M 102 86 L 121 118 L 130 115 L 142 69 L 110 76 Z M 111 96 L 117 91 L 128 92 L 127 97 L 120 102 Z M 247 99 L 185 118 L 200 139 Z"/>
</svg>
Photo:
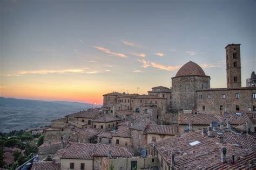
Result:
<svg viewBox="0 0 256 170">
<path fill-rule="evenodd" d="M 241 44 L 228 44 L 226 48 L 227 88 L 241 87 Z"/>
</svg>

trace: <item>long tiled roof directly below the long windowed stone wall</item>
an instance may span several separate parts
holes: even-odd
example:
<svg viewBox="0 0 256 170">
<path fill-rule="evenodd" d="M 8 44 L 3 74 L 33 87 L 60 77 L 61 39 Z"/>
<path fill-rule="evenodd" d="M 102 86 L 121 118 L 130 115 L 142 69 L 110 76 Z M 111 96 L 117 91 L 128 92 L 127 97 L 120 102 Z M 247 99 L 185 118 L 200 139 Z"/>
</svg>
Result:
<svg viewBox="0 0 256 170">
<path fill-rule="evenodd" d="M 192 113 L 179 112 L 178 123 L 194 125 L 210 125 L 212 121 L 217 121 L 219 124 L 221 121 L 226 124 L 227 121 L 231 122 L 231 125 L 242 125 L 248 122 L 252 124 L 252 121 L 246 114 L 237 115 L 235 113 L 227 113 L 223 115 L 201 114 L 194 115 Z"/>
</svg>

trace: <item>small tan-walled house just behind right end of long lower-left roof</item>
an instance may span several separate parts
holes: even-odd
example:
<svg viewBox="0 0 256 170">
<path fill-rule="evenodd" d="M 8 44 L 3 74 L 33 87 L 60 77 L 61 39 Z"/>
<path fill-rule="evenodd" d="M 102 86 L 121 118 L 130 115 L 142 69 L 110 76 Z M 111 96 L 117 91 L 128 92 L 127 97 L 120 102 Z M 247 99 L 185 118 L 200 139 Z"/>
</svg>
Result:
<svg viewBox="0 0 256 170">
<path fill-rule="evenodd" d="M 131 130 L 129 126 L 118 126 L 112 135 L 113 145 L 116 146 L 132 146 Z"/>
</svg>

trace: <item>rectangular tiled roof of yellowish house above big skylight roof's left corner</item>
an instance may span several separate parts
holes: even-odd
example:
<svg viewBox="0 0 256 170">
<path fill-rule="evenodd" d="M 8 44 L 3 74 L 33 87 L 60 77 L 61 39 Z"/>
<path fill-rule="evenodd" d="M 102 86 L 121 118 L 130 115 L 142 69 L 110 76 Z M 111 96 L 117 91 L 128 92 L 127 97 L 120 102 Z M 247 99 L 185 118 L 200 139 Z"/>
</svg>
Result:
<svg viewBox="0 0 256 170">
<path fill-rule="evenodd" d="M 176 135 L 178 134 L 178 126 L 152 124 L 149 126 L 147 133 Z"/>
</svg>

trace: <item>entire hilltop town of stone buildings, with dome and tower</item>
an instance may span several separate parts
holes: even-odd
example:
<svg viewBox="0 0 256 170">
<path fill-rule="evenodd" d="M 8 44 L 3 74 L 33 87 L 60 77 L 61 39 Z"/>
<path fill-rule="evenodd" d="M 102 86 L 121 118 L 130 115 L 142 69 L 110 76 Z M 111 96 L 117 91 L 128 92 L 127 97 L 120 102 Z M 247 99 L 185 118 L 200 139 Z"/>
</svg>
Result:
<svg viewBox="0 0 256 170">
<path fill-rule="evenodd" d="M 256 168 L 255 74 L 241 87 L 240 44 L 225 50 L 227 87 L 189 61 L 171 88 L 104 94 L 103 107 L 51 122 L 32 169 Z"/>
</svg>

